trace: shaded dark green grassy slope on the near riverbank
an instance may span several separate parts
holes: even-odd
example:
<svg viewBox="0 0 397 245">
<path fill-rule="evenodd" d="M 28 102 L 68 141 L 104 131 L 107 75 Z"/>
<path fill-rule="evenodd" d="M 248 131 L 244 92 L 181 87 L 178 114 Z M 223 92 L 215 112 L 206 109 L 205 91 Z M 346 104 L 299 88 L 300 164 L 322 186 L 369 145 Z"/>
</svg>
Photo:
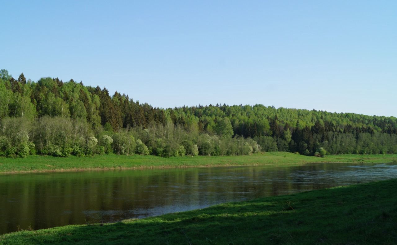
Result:
<svg viewBox="0 0 397 245">
<path fill-rule="evenodd" d="M 397 179 L 141 220 L 0 235 L 0 244 L 397 244 Z"/>
</svg>

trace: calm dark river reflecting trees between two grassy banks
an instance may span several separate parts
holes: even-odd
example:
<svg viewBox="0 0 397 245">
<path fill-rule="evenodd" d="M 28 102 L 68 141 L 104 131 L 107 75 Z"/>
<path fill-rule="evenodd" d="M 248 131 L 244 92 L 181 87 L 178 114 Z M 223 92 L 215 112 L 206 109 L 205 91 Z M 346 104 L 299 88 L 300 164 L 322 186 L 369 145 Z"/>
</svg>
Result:
<svg viewBox="0 0 397 245">
<path fill-rule="evenodd" d="M 397 163 L 317 163 L 0 175 L 0 234 L 116 222 L 397 178 Z"/>
</svg>

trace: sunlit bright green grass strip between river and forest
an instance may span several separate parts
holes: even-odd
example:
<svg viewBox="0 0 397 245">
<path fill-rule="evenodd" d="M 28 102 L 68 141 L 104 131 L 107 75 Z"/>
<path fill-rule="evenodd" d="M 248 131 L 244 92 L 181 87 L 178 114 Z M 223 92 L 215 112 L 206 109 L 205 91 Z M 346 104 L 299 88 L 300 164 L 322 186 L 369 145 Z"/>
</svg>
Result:
<svg viewBox="0 0 397 245">
<path fill-rule="evenodd" d="M 396 154 L 379 155 L 328 155 L 326 157 L 307 157 L 288 152 L 266 152 L 250 156 L 220 157 L 170 157 L 96 155 L 94 157 L 51 157 L 28 156 L 26 158 L 0 158 L 0 173 L 38 172 L 38 171 L 75 171 L 88 169 L 113 168 L 161 168 L 161 167 L 204 167 L 228 165 L 266 165 L 296 163 L 350 163 L 370 162 L 387 163 L 397 161 Z"/>
</svg>

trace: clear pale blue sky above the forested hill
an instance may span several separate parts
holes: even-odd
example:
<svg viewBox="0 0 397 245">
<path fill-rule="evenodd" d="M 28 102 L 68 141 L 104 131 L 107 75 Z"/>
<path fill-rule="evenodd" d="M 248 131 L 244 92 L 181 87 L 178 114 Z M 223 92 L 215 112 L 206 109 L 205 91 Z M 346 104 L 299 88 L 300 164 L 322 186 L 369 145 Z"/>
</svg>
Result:
<svg viewBox="0 0 397 245">
<path fill-rule="evenodd" d="M 397 116 L 397 1 L 2 1 L 0 69 L 154 107 Z"/>
</svg>

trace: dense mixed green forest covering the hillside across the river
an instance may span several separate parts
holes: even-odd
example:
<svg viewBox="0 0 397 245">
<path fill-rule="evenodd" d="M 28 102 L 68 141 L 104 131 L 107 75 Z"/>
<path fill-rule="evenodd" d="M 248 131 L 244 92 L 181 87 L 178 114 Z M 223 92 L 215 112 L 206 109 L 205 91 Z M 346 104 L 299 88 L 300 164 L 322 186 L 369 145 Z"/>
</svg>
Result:
<svg viewBox="0 0 397 245">
<path fill-rule="evenodd" d="M 0 71 L 0 156 L 397 153 L 397 119 L 264 105 L 154 108 L 73 79 Z"/>
</svg>

